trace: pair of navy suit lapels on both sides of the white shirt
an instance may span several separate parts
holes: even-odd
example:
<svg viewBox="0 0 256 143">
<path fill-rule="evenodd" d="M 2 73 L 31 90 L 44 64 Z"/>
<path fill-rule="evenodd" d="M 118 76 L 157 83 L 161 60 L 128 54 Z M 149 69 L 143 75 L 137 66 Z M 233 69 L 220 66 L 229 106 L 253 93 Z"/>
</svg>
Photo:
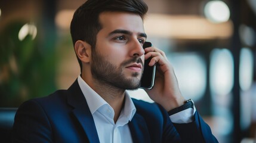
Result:
<svg viewBox="0 0 256 143">
<path fill-rule="evenodd" d="M 67 103 L 74 107 L 72 113 L 84 129 L 89 142 L 100 142 L 92 114 L 78 85 L 78 80 L 70 86 L 68 92 Z M 140 114 L 135 113 L 128 125 L 133 142 L 150 142 L 150 135 L 146 122 Z"/>
</svg>

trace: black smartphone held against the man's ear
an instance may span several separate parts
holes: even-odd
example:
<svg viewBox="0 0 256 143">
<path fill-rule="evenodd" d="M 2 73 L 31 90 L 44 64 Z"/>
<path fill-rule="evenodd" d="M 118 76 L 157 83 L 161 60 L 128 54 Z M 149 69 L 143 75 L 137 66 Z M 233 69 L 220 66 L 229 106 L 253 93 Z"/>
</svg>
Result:
<svg viewBox="0 0 256 143">
<path fill-rule="evenodd" d="M 152 43 L 145 42 L 143 44 L 143 49 L 152 46 Z M 144 71 L 140 81 L 140 88 L 142 89 L 152 89 L 155 83 L 156 65 L 149 66 L 151 58 L 144 61 Z"/>
</svg>

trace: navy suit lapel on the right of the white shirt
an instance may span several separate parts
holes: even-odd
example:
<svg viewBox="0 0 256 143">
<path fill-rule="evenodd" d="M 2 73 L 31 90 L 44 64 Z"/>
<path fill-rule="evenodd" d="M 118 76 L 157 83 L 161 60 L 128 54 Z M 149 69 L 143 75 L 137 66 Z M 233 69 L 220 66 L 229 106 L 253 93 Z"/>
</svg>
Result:
<svg viewBox="0 0 256 143">
<path fill-rule="evenodd" d="M 150 135 L 146 122 L 140 114 L 134 114 L 131 122 L 129 122 L 129 129 L 133 142 L 150 142 Z"/>
</svg>

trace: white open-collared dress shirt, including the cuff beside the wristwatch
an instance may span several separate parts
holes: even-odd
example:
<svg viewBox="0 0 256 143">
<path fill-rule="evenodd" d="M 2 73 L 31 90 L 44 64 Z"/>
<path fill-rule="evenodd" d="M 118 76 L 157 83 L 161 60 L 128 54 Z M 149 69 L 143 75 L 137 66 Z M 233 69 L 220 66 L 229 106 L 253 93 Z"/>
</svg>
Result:
<svg viewBox="0 0 256 143">
<path fill-rule="evenodd" d="M 128 92 L 125 92 L 124 108 L 115 123 L 113 120 L 115 115 L 113 108 L 103 98 L 101 98 L 100 95 L 91 89 L 80 75 L 78 76 L 78 84 L 85 96 L 85 99 L 87 100 L 100 142 L 132 142 L 128 122 L 132 120 L 132 117 L 136 112 L 136 108 Z M 174 123 L 189 123 L 192 122 L 193 113 L 195 113 L 195 106 L 194 109 L 189 108 L 173 114 L 170 116 L 170 119 Z"/>
</svg>

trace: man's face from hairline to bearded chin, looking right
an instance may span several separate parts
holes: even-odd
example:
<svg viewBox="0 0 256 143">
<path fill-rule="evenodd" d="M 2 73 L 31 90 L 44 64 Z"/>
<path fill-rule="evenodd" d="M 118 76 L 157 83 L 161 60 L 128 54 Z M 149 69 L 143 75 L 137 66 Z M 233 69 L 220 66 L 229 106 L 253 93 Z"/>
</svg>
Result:
<svg viewBox="0 0 256 143">
<path fill-rule="evenodd" d="M 92 52 L 94 79 L 120 89 L 137 89 L 143 73 L 146 41 L 139 15 L 107 12 L 100 14 L 102 29 Z"/>
</svg>

